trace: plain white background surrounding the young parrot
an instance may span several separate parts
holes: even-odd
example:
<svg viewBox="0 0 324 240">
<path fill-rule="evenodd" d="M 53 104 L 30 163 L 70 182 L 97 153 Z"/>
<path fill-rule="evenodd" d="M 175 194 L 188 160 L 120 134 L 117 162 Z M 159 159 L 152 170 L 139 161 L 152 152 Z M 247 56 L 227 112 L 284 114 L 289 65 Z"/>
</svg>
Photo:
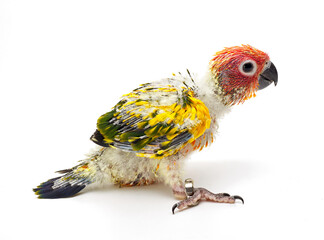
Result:
<svg viewBox="0 0 324 240">
<path fill-rule="evenodd" d="M 0 1 L 1 224 L 8 239 L 323 239 L 321 1 Z M 171 214 L 163 185 L 39 200 L 94 147 L 97 118 L 140 83 L 251 44 L 279 83 L 233 108 L 185 177 L 245 204 Z"/>
</svg>

